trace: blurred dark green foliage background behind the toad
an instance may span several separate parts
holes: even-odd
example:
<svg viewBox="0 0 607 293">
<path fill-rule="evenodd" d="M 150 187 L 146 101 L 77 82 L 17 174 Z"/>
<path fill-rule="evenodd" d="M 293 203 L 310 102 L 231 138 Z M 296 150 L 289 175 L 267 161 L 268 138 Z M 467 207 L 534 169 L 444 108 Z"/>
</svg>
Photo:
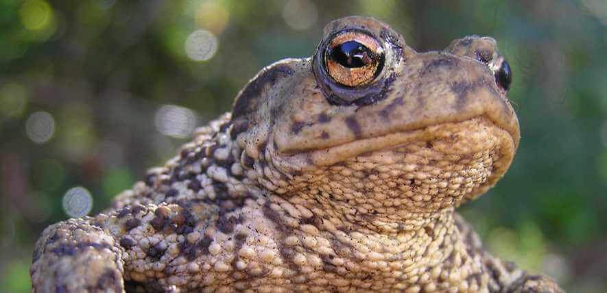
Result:
<svg viewBox="0 0 607 293">
<path fill-rule="evenodd" d="M 495 254 L 571 292 L 607 281 L 607 2 L 0 0 L 0 288 L 29 290 L 32 247 L 82 186 L 91 213 L 163 164 L 276 60 L 361 14 L 418 51 L 479 34 L 514 71 L 521 146 L 463 207 Z M 85 211 L 86 212 L 86 211 Z"/>
</svg>

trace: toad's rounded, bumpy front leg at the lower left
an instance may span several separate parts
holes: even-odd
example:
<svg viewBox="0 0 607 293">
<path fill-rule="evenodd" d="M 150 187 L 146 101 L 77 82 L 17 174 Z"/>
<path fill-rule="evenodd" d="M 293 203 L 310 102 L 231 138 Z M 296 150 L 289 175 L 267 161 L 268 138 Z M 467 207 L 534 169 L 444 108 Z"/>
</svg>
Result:
<svg viewBox="0 0 607 293">
<path fill-rule="evenodd" d="M 122 249 L 88 219 L 43 232 L 34 250 L 32 292 L 124 292 Z"/>
</svg>

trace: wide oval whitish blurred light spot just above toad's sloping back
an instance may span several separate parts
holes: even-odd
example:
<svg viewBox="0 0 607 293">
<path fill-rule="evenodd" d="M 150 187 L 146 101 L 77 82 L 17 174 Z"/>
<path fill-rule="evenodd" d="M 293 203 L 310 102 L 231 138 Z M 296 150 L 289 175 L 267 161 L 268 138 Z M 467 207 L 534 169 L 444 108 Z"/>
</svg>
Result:
<svg viewBox="0 0 607 293">
<path fill-rule="evenodd" d="M 165 136 L 186 138 L 196 127 L 196 114 L 185 107 L 163 105 L 156 112 L 156 128 Z"/>
</svg>

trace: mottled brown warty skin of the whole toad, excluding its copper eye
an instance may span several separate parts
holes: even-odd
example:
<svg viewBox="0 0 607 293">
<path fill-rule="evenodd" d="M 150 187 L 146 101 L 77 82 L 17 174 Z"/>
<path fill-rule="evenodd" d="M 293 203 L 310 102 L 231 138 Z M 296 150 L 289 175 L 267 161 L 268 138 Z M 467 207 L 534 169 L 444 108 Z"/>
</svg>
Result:
<svg viewBox="0 0 607 293">
<path fill-rule="evenodd" d="M 233 112 L 94 217 L 51 225 L 33 292 L 562 292 L 492 257 L 454 209 L 495 185 L 519 144 L 495 40 L 385 49 L 370 86 L 340 92 L 318 57 L 264 68 Z M 481 61 L 479 61 L 481 60 Z M 365 94 L 361 92 L 367 91 Z"/>
</svg>

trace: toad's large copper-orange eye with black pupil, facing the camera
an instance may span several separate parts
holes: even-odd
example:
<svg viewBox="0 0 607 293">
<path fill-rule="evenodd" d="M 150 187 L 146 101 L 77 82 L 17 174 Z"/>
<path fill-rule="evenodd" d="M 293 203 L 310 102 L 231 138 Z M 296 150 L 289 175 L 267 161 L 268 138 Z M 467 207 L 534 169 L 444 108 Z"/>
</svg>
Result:
<svg viewBox="0 0 607 293">
<path fill-rule="evenodd" d="M 381 73 L 384 60 L 381 44 L 359 31 L 338 34 L 324 52 L 326 72 L 338 84 L 350 88 L 373 81 Z"/>
</svg>

